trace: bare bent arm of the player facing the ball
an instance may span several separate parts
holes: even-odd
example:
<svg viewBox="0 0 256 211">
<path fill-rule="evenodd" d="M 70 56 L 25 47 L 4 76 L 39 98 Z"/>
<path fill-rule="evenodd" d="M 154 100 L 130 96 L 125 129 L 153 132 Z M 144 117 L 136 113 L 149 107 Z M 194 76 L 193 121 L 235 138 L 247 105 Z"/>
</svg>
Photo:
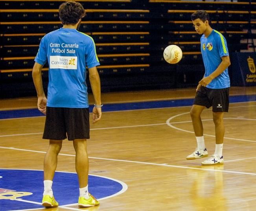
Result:
<svg viewBox="0 0 256 211">
<path fill-rule="evenodd" d="M 199 81 L 199 85 L 206 87 L 206 85 L 208 85 L 214 78 L 219 76 L 231 64 L 229 56 L 223 56 L 223 57 L 221 57 L 221 60 L 222 61 L 219 64 L 219 66 L 217 67 L 217 69 L 214 70 L 214 72 L 212 72 L 212 74 L 210 74 L 209 76 L 207 76 L 207 77 L 203 78 L 201 81 Z"/>
</svg>

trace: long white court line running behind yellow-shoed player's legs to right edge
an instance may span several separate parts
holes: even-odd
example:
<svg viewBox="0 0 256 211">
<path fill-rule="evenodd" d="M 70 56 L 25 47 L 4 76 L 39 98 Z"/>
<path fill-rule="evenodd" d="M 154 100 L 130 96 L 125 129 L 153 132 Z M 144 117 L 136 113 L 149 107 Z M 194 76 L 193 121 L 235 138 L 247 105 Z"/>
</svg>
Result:
<svg viewBox="0 0 256 211">
<path fill-rule="evenodd" d="M 20 150 L 20 151 L 31 151 L 31 152 L 38 152 L 38 153 L 46 153 L 45 151 L 24 150 L 24 149 L 18 149 L 18 148 L 12 148 L 12 147 L 4 147 L 4 146 L 0 146 L 0 148 L 10 149 L 10 150 Z M 62 153 L 59 153 L 59 155 L 72 156 L 72 157 L 76 156 L 76 155 L 69 155 L 69 154 L 62 154 Z M 213 170 L 213 169 L 206 169 L 206 168 L 205 169 L 204 168 L 193 168 L 193 167 L 187 167 L 187 166 L 175 166 L 175 165 L 168 165 L 168 164 L 158 164 L 158 163 L 140 162 L 140 161 L 128 161 L 128 160 L 110 159 L 110 158 L 101 158 L 101 157 L 89 157 L 89 158 L 91 158 L 91 159 L 99 159 L 99 160 L 106 160 L 106 161 L 118 161 L 118 162 L 129 162 L 129 163 L 137 163 L 137 164 L 146 164 L 146 165 L 154 165 L 154 166 L 167 166 L 167 167 L 173 167 L 173 168 L 197 169 L 197 170 L 204 170 L 204 171 L 221 171 L 221 172 L 226 172 L 226 173 L 256 175 L 256 173 L 248 173 L 248 172 L 241 172 L 241 171 Z"/>
</svg>

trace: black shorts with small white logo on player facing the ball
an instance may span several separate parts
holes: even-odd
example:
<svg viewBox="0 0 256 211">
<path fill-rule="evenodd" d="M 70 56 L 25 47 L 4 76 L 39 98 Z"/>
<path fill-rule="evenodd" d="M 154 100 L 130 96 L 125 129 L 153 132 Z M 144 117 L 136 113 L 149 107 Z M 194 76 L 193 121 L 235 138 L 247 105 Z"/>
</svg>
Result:
<svg viewBox="0 0 256 211">
<path fill-rule="evenodd" d="M 219 89 L 200 87 L 193 104 L 206 106 L 206 108 L 212 106 L 213 112 L 228 112 L 229 87 Z"/>
</svg>

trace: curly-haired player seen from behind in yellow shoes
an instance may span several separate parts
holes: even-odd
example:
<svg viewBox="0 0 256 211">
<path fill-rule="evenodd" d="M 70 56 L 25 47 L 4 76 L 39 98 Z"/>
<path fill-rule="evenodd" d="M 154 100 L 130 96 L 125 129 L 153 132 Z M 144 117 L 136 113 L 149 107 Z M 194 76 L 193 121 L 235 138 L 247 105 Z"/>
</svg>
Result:
<svg viewBox="0 0 256 211">
<path fill-rule="evenodd" d="M 99 60 L 93 39 L 77 31 L 85 10 L 80 3 L 65 2 L 59 7 L 61 29 L 46 34 L 35 57 L 32 76 L 37 90 L 38 109 L 46 114 L 43 139 L 50 139 L 44 157 L 44 193 L 42 206 L 57 207 L 53 191 L 53 176 L 62 141 L 68 137 L 76 151 L 76 172 L 79 180 L 79 207 L 98 205 L 88 193 L 87 142 L 90 138 L 89 104 L 86 66 L 95 100 L 93 123 L 101 119 L 100 79 L 96 66 Z M 48 61 L 49 84 L 47 99 L 42 86 L 42 67 Z M 66 195 L 66 197 L 70 197 Z"/>
</svg>

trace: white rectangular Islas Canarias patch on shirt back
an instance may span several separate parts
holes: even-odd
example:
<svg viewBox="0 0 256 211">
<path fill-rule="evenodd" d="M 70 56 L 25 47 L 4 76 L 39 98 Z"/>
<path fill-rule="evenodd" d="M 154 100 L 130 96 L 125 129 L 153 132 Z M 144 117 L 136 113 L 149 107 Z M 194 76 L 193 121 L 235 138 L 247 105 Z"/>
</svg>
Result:
<svg viewBox="0 0 256 211">
<path fill-rule="evenodd" d="M 77 56 L 50 56 L 50 69 L 77 69 Z"/>
</svg>

